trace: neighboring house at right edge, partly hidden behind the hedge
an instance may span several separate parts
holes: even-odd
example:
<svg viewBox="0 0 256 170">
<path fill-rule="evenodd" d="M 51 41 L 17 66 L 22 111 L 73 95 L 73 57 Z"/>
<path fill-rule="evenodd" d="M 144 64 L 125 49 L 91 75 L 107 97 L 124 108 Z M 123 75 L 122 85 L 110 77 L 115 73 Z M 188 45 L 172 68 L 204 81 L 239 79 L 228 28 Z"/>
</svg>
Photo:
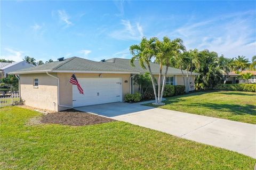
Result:
<svg viewBox="0 0 256 170">
<path fill-rule="evenodd" d="M 244 74 L 246 72 L 251 72 L 251 74 L 252 74 L 252 78 L 249 79 L 249 83 L 256 83 L 256 71 L 244 70 L 244 71 L 241 71 L 240 74 Z M 227 75 L 227 81 L 231 82 L 232 84 L 244 83 L 245 80 L 238 78 L 240 76 L 240 74 L 236 74 L 235 71 L 229 72 L 229 74 Z"/>
</svg>

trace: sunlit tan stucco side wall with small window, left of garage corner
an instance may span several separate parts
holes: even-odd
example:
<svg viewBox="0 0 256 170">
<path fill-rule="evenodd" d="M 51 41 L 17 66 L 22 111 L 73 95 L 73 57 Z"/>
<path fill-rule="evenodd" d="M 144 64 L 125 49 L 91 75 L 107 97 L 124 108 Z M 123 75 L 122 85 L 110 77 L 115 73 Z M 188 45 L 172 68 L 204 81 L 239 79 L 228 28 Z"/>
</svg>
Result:
<svg viewBox="0 0 256 170">
<path fill-rule="evenodd" d="M 34 88 L 38 78 L 38 88 Z M 20 93 L 27 106 L 57 111 L 57 79 L 42 74 L 20 75 Z M 55 102 L 55 104 L 54 104 Z"/>
</svg>

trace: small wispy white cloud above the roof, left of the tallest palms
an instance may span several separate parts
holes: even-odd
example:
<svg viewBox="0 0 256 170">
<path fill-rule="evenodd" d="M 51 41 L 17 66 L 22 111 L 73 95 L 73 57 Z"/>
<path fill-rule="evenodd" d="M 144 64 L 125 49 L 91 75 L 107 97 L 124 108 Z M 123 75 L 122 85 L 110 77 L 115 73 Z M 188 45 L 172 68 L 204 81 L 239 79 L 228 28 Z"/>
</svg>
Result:
<svg viewBox="0 0 256 170">
<path fill-rule="evenodd" d="M 121 20 L 123 29 L 113 31 L 110 36 L 122 40 L 140 40 L 143 37 L 143 28 L 139 22 L 132 24 L 130 20 Z"/>
</svg>

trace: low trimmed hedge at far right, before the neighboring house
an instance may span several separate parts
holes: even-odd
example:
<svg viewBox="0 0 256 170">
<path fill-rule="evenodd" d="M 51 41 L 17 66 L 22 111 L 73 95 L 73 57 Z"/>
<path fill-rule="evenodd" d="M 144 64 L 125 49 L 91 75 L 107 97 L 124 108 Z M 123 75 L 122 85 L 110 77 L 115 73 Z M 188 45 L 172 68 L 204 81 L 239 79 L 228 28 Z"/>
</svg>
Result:
<svg viewBox="0 0 256 170">
<path fill-rule="evenodd" d="M 218 84 L 213 87 L 214 90 L 228 90 L 228 91 L 244 91 L 256 92 L 256 84 Z"/>
</svg>

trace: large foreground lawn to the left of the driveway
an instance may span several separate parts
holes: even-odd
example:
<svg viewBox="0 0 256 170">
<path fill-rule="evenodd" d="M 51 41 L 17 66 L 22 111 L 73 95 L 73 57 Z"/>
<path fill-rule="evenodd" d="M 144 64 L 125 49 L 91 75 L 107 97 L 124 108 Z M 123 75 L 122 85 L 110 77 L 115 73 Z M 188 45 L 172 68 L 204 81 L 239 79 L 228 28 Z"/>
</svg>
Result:
<svg viewBox="0 0 256 170">
<path fill-rule="evenodd" d="M 0 169 L 253 169 L 255 159 L 124 122 L 28 125 L 1 108 Z"/>
</svg>

